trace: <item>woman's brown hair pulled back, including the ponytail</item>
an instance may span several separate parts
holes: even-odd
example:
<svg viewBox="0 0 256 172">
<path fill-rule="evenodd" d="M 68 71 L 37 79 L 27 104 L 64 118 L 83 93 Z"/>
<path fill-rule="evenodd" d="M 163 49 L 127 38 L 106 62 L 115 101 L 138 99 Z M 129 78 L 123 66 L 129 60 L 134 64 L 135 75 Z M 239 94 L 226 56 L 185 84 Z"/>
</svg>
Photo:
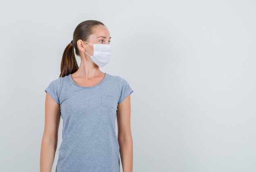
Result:
<svg viewBox="0 0 256 172">
<path fill-rule="evenodd" d="M 79 67 L 77 65 L 74 53 L 76 53 L 76 55 L 78 56 L 80 56 L 80 54 L 76 42 L 79 39 L 87 41 L 88 37 L 94 33 L 93 27 L 100 24 L 105 26 L 102 22 L 99 22 L 97 20 L 86 20 L 76 26 L 73 34 L 73 44 L 71 44 L 70 42 L 63 52 L 61 60 L 61 74 L 59 77 L 64 77 L 69 74 L 73 74 L 78 70 Z"/>
</svg>

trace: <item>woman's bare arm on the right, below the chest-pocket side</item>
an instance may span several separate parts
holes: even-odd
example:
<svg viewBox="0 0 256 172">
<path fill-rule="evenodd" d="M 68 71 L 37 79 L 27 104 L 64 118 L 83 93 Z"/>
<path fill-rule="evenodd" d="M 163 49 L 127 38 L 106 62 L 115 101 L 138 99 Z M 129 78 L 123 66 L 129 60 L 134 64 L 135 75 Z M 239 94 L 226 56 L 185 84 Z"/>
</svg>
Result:
<svg viewBox="0 0 256 172">
<path fill-rule="evenodd" d="M 117 106 L 118 142 L 123 172 L 132 172 L 133 148 L 130 127 L 130 94 Z"/>
</svg>

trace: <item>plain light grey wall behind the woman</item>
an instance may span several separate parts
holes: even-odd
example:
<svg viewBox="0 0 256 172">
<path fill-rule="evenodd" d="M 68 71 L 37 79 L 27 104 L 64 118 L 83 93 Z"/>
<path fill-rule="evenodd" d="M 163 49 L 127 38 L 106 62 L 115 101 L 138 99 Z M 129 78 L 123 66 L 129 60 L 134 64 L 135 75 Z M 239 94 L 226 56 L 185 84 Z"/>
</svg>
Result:
<svg viewBox="0 0 256 172">
<path fill-rule="evenodd" d="M 0 171 L 39 171 L 44 89 L 85 20 L 103 22 L 112 36 L 101 70 L 134 90 L 135 172 L 256 171 L 255 5 L 1 1 Z"/>
</svg>

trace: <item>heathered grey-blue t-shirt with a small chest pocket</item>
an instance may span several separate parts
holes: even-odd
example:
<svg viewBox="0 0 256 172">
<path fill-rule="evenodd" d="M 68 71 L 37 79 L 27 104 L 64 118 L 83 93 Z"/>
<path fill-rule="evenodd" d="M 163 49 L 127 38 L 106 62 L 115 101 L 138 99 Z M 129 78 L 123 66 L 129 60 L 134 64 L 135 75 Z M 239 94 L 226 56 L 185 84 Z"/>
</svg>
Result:
<svg viewBox="0 0 256 172">
<path fill-rule="evenodd" d="M 133 92 L 120 76 L 105 74 L 97 85 L 77 85 L 71 74 L 45 89 L 60 105 L 62 142 L 56 172 L 120 172 L 115 132 L 117 105 Z"/>
</svg>

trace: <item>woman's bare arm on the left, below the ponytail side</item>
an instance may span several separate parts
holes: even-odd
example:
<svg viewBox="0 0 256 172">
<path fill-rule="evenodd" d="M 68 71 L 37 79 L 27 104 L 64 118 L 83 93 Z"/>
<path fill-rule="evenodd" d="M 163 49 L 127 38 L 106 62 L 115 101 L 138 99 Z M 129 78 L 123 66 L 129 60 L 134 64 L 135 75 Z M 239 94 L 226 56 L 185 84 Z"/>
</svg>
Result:
<svg viewBox="0 0 256 172">
<path fill-rule="evenodd" d="M 40 172 L 51 172 L 58 144 L 60 105 L 49 95 L 45 98 L 45 129 L 40 152 Z"/>
</svg>

